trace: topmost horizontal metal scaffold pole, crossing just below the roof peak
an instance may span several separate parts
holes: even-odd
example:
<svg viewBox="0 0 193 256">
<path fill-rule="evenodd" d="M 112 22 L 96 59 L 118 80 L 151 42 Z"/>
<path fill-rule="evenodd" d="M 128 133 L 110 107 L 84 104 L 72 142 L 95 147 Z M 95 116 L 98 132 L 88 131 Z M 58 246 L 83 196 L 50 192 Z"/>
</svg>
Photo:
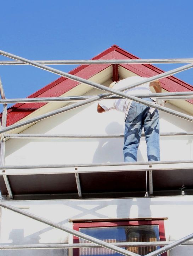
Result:
<svg viewBox="0 0 193 256">
<path fill-rule="evenodd" d="M 111 60 L 33 60 L 44 65 L 88 65 L 88 64 L 151 64 L 193 63 L 193 59 L 111 59 Z M 23 62 L 2 60 L 0 65 L 29 65 Z"/>
</svg>

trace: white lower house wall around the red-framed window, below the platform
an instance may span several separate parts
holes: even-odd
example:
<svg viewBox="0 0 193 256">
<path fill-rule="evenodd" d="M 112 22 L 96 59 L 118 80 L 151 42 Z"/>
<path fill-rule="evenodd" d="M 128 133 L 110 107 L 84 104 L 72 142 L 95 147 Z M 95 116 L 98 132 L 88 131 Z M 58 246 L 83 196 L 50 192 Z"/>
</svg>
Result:
<svg viewBox="0 0 193 256">
<path fill-rule="evenodd" d="M 177 240 L 193 233 L 193 196 L 133 199 L 96 199 L 96 200 L 55 200 L 55 201 L 14 201 L 6 202 L 15 207 L 28 207 L 30 213 L 39 215 L 53 222 L 72 227 L 73 219 L 121 219 L 121 218 L 168 218 L 164 221 L 166 240 Z M 68 234 L 43 223 L 2 209 L 1 243 L 38 244 L 72 242 Z M 36 255 L 42 254 L 39 250 Z M 48 253 L 53 250 L 47 250 Z M 192 256 L 193 247 L 177 247 L 171 256 Z M 34 255 L 33 251 L 2 251 L 6 256 Z M 45 253 L 45 252 L 44 252 Z M 51 253 L 51 252 L 50 252 Z M 64 251 L 56 251 L 63 255 Z M 47 253 L 46 253 L 47 254 Z M 47 254 L 51 255 L 51 254 Z"/>
</svg>

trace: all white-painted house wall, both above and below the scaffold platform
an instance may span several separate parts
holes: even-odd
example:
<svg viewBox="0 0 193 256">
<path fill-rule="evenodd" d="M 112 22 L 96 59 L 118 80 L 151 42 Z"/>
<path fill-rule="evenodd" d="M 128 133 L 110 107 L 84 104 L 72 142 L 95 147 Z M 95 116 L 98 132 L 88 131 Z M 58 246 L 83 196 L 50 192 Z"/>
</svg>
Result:
<svg viewBox="0 0 193 256">
<path fill-rule="evenodd" d="M 167 104 L 168 107 L 180 110 Z M 124 132 L 124 116 L 111 111 L 97 113 L 97 103 L 45 119 L 23 133 L 108 134 Z M 160 112 L 160 132 L 191 131 L 192 123 Z M 193 136 L 161 137 L 161 160 L 192 159 Z M 76 164 L 123 162 L 123 139 L 10 139 L 6 142 L 6 165 Z M 146 143 L 141 139 L 138 160 L 147 161 Z M 13 206 L 29 206 L 27 211 L 71 226 L 69 219 L 168 218 L 166 238 L 177 240 L 193 233 L 193 196 L 101 200 L 13 201 Z M 1 243 L 36 244 L 69 242 L 68 234 L 2 209 Z M 2 255 L 44 255 L 42 250 L 3 251 Z M 171 256 L 192 256 L 193 247 L 174 249 Z M 64 250 L 48 250 L 46 255 L 64 255 Z"/>
</svg>

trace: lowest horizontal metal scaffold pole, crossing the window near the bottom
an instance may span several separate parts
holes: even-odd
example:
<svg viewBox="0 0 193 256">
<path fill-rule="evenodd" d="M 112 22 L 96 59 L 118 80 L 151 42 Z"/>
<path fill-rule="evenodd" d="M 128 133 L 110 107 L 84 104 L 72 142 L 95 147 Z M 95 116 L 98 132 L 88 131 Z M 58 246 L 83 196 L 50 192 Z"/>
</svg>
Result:
<svg viewBox="0 0 193 256">
<path fill-rule="evenodd" d="M 109 243 L 118 247 L 126 246 L 165 246 L 171 244 L 172 241 L 163 242 L 114 242 Z M 182 245 L 193 245 L 193 242 L 185 242 Z M 182 246 L 180 245 L 180 246 Z M 14 245 L 14 244 L 0 244 L 0 250 L 18 250 L 18 249 L 70 249 L 70 248 L 96 248 L 101 247 L 92 243 L 80 243 L 80 244 L 27 244 L 27 245 Z"/>
</svg>

